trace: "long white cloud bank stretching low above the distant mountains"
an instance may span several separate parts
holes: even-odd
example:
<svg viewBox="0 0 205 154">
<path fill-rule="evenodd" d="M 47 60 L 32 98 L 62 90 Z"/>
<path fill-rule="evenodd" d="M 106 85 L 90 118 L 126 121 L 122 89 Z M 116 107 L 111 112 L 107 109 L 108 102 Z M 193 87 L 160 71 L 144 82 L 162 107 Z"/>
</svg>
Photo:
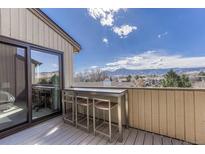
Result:
<svg viewBox="0 0 205 154">
<path fill-rule="evenodd" d="M 159 51 L 146 51 L 142 54 L 107 63 L 102 69 L 114 71 L 120 68 L 143 70 L 194 67 L 205 67 L 205 57 L 184 57 L 181 55 L 167 55 Z"/>
</svg>

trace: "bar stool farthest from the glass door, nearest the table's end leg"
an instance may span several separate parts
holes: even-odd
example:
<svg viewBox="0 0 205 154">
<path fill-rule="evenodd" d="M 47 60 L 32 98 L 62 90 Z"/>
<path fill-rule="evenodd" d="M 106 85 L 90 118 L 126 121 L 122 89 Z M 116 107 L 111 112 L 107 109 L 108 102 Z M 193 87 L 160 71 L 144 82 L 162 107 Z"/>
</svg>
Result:
<svg viewBox="0 0 205 154">
<path fill-rule="evenodd" d="M 111 121 L 111 110 L 117 106 L 117 103 L 111 102 L 110 100 L 107 99 L 100 99 L 100 98 L 94 98 L 93 99 L 93 129 L 94 129 L 94 135 L 97 133 L 100 133 L 102 135 L 105 135 L 107 137 L 109 137 L 110 142 L 112 141 L 112 121 Z M 95 123 L 95 112 L 96 109 L 98 110 L 102 110 L 103 111 L 103 117 L 104 117 L 104 121 L 99 124 L 96 127 L 96 123 Z M 108 111 L 108 125 L 109 125 L 109 132 L 108 133 L 104 133 L 103 131 L 98 130 L 106 121 L 105 121 L 105 113 L 104 111 Z"/>
</svg>

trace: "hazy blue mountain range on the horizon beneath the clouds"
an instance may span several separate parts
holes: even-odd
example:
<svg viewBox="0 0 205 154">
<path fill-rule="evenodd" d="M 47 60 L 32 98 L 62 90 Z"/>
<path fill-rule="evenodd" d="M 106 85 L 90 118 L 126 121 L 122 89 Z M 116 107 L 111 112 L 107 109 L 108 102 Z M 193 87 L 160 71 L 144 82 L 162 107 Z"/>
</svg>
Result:
<svg viewBox="0 0 205 154">
<path fill-rule="evenodd" d="M 144 69 L 144 70 L 130 70 L 130 69 L 117 69 L 115 71 L 105 71 L 108 76 L 127 76 L 127 75 L 164 75 L 170 69 L 173 69 L 178 74 L 192 73 L 192 72 L 205 72 L 205 67 L 197 68 L 165 68 L 165 69 Z"/>
</svg>

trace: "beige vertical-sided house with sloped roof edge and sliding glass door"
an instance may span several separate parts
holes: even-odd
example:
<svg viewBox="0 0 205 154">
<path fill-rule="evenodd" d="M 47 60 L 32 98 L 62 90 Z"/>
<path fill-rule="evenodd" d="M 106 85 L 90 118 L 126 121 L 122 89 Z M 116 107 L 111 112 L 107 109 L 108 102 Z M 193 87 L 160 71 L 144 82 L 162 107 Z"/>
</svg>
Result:
<svg viewBox="0 0 205 154">
<path fill-rule="evenodd" d="M 0 9 L 0 90 L 15 98 L 15 109 L 18 109 L 12 112 L 0 109 L 0 137 L 61 113 L 59 89 L 72 86 L 73 54 L 80 49 L 80 45 L 40 9 Z M 46 70 L 44 76 L 53 81 L 50 85 L 34 81 L 37 67 Z M 40 73 L 37 76 L 43 75 L 43 71 Z M 59 75 L 52 78 L 52 74 Z M 59 84 L 52 84 L 54 82 Z M 50 105 L 46 112 L 40 108 L 43 115 L 34 110 L 34 103 L 41 107 L 38 103 L 42 102 L 36 99 L 34 102 L 36 84 L 40 88 L 47 86 L 43 91 L 52 91 L 48 101 L 52 100 L 55 107 Z M 1 103 L 9 103 L 9 100 L 2 99 Z"/>
</svg>

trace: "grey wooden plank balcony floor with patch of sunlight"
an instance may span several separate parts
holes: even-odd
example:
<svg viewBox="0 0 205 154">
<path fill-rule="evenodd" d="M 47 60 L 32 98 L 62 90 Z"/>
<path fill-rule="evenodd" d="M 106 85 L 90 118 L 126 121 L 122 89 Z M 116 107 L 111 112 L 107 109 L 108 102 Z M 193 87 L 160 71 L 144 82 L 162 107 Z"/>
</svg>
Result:
<svg viewBox="0 0 205 154">
<path fill-rule="evenodd" d="M 189 144 L 173 138 L 149 133 L 138 129 L 124 129 L 123 142 L 117 141 L 118 133 L 114 132 L 113 141 L 101 135 L 94 136 L 84 130 L 65 124 L 62 117 L 56 117 L 34 127 L 28 128 L 6 138 L 0 139 L 1 145 L 181 145 Z"/>
</svg>

